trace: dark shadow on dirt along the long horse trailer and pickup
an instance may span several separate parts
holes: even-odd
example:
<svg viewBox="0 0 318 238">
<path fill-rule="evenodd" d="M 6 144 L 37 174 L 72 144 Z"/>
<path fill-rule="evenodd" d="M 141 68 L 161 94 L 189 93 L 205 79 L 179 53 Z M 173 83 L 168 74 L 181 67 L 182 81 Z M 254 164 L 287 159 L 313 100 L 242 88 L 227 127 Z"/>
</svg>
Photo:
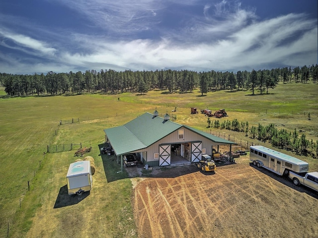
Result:
<svg viewBox="0 0 318 238">
<path fill-rule="evenodd" d="M 290 187 L 293 188 L 299 192 L 304 192 L 306 194 L 308 194 L 309 196 L 312 196 L 316 199 L 318 199 L 318 192 L 312 190 L 311 188 L 307 188 L 305 186 L 296 186 L 287 176 L 280 176 L 277 175 L 267 169 L 264 168 L 258 168 L 257 166 L 254 166 L 252 163 L 249 164 L 249 166 L 253 167 L 253 169 L 258 170 L 259 172 L 271 177 L 272 179 L 275 179 L 276 181 Z"/>
</svg>

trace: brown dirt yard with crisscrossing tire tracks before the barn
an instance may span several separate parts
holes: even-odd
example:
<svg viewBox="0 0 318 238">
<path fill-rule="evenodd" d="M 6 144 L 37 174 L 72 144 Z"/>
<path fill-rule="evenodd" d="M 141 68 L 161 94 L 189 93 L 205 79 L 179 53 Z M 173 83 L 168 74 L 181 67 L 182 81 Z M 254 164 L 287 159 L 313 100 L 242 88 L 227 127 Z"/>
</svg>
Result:
<svg viewBox="0 0 318 238">
<path fill-rule="evenodd" d="M 140 238 L 318 237 L 318 194 L 250 165 L 247 156 L 216 174 L 190 165 L 152 177 L 134 191 Z"/>
</svg>

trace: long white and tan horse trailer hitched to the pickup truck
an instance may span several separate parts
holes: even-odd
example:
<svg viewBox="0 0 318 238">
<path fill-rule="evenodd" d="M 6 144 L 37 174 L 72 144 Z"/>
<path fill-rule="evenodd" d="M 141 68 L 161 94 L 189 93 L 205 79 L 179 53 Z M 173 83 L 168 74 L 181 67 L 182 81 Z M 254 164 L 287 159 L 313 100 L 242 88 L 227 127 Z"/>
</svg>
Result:
<svg viewBox="0 0 318 238">
<path fill-rule="evenodd" d="M 308 172 L 308 163 L 305 161 L 260 145 L 250 146 L 249 161 L 258 168 L 263 167 L 278 175 L 288 175 L 289 171 Z"/>
</svg>

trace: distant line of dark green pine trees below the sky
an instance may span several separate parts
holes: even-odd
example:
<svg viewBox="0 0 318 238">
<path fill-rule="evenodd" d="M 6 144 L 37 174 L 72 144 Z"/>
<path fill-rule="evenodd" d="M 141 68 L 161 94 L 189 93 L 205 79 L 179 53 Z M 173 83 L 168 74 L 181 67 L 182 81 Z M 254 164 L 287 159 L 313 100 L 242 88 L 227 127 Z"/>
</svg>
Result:
<svg viewBox="0 0 318 238">
<path fill-rule="evenodd" d="M 0 73 L 0 83 L 7 95 L 28 96 L 103 91 L 104 93 L 140 92 L 160 89 L 187 93 L 196 88 L 207 93 L 218 90 L 251 90 L 261 94 L 283 81 L 284 83 L 318 82 L 318 64 L 303 67 L 284 67 L 234 72 L 196 72 L 190 70 L 156 71 L 100 71 L 86 70 L 76 73 L 7 74 Z"/>
</svg>

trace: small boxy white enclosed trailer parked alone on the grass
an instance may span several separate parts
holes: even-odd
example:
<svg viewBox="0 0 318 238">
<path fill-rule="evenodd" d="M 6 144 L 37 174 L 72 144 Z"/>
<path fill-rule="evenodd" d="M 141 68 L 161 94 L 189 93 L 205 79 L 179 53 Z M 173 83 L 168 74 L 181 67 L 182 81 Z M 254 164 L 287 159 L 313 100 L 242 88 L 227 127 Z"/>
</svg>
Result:
<svg viewBox="0 0 318 238">
<path fill-rule="evenodd" d="M 90 161 L 79 161 L 72 163 L 66 176 L 68 192 L 79 196 L 92 188 L 92 176 Z"/>
</svg>

